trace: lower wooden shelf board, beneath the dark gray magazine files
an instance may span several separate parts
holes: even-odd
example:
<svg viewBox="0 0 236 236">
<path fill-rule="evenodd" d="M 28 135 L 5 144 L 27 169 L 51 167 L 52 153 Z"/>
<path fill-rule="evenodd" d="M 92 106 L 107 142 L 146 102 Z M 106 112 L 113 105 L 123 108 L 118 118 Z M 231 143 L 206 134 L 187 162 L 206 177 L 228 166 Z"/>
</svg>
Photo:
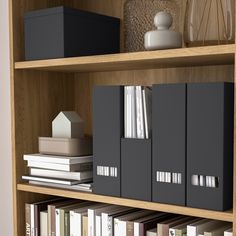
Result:
<svg viewBox="0 0 236 236">
<path fill-rule="evenodd" d="M 177 214 L 183 214 L 183 215 L 188 215 L 188 216 L 196 216 L 196 217 L 203 217 L 203 218 L 208 218 L 208 219 L 233 222 L 232 211 L 226 211 L 226 212 L 210 211 L 210 210 L 196 209 L 196 208 L 190 208 L 190 207 L 174 206 L 174 205 L 167 205 L 167 204 L 160 204 L 160 203 L 153 203 L 153 202 L 146 202 L 146 201 L 139 201 L 139 200 L 131 200 L 131 199 L 125 199 L 125 198 L 118 198 L 118 197 L 103 196 L 103 195 L 97 195 L 97 194 L 86 193 L 86 192 L 56 189 L 56 188 L 51 188 L 51 187 L 41 187 L 41 186 L 30 185 L 30 184 L 18 184 L 17 189 L 19 191 L 25 191 L 25 192 L 40 193 L 40 194 L 46 194 L 46 195 L 102 202 L 102 203 L 129 206 L 129 207 L 137 207 L 137 208 L 148 209 L 148 210 L 163 211 L 163 212 L 177 213 Z"/>
</svg>

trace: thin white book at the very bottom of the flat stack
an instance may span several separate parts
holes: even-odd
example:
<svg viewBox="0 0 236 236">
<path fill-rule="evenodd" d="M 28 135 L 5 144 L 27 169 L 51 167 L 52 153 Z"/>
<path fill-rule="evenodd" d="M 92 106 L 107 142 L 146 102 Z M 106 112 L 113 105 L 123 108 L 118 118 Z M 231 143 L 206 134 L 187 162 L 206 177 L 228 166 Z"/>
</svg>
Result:
<svg viewBox="0 0 236 236">
<path fill-rule="evenodd" d="M 45 186 L 45 187 L 53 187 L 53 188 L 79 190 L 79 191 L 84 191 L 84 192 L 92 192 L 92 186 L 87 187 L 87 186 L 84 186 L 83 184 L 64 185 L 64 184 L 55 184 L 55 183 L 45 183 L 45 182 L 34 181 L 34 180 L 29 180 L 29 184 L 40 185 L 40 186 Z"/>
</svg>

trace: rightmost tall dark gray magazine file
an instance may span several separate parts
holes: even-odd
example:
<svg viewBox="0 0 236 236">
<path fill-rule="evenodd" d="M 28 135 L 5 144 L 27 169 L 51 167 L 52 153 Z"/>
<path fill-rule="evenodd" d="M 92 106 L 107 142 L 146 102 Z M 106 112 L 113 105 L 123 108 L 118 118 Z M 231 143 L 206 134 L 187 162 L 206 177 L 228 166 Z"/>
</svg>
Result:
<svg viewBox="0 0 236 236">
<path fill-rule="evenodd" d="M 225 211 L 233 205 L 234 84 L 187 85 L 187 206 Z M 218 178 L 218 186 L 195 176 Z M 196 182 L 195 182 L 196 181 Z M 215 182 L 215 181 L 214 181 Z M 200 185 L 200 186 L 199 186 Z M 205 185 L 205 186 L 204 186 Z"/>
</svg>

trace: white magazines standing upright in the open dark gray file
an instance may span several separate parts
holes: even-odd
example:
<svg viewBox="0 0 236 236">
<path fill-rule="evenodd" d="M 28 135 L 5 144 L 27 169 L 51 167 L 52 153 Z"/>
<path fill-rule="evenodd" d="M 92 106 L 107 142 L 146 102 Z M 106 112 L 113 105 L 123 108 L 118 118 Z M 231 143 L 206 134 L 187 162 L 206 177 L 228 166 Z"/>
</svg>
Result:
<svg viewBox="0 0 236 236">
<path fill-rule="evenodd" d="M 125 138 L 150 138 L 151 99 L 151 87 L 124 87 Z"/>
</svg>

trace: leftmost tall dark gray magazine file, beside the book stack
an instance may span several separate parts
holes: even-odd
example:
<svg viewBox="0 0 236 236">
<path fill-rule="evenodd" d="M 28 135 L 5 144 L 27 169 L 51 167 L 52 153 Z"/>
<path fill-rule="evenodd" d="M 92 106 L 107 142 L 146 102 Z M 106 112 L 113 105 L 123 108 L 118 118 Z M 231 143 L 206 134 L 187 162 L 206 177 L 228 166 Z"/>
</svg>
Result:
<svg viewBox="0 0 236 236">
<path fill-rule="evenodd" d="M 123 136 L 124 88 L 93 90 L 93 191 L 120 197 L 120 139 Z"/>
</svg>

